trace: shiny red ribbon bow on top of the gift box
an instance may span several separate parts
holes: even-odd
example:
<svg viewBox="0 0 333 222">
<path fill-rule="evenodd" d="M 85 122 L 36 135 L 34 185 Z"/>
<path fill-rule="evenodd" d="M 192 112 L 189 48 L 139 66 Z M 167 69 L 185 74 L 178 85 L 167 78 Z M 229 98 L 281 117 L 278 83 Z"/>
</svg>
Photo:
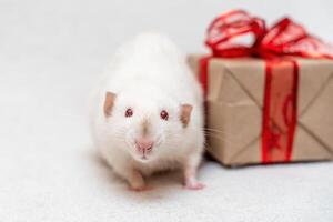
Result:
<svg viewBox="0 0 333 222">
<path fill-rule="evenodd" d="M 239 40 L 251 38 L 250 43 Z M 246 40 L 246 39 L 245 39 Z M 206 46 L 213 57 L 300 56 L 333 59 L 333 47 L 309 34 L 289 18 L 283 18 L 266 29 L 261 18 L 251 17 L 243 10 L 233 10 L 218 17 L 208 29 Z"/>
</svg>

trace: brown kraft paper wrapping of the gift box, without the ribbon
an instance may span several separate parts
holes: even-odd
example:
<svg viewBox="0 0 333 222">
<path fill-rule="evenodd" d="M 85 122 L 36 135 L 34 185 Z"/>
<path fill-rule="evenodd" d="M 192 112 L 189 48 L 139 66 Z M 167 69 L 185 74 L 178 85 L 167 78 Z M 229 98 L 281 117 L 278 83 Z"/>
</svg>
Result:
<svg viewBox="0 0 333 222">
<path fill-rule="evenodd" d="M 199 59 L 189 63 L 199 77 Z M 296 59 L 297 122 L 291 161 L 333 159 L 333 61 Z M 224 165 L 262 163 L 261 134 L 265 84 L 262 59 L 213 58 L 208 69 L 209 153 Z"/>
</svg>

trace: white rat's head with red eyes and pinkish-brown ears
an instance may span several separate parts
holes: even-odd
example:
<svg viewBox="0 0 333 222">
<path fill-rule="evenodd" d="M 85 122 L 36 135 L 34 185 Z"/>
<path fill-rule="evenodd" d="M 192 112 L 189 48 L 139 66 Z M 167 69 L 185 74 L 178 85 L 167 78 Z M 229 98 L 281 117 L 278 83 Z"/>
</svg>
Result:
<svg viewBox="0 0 333 222">
<path fill-rule="evenodd" d="M 104 117 L 112 142 L 148 162 L 175 152 L 190 122 L 192 105 L 150 93 L 105 93 Z"/>
</svg>

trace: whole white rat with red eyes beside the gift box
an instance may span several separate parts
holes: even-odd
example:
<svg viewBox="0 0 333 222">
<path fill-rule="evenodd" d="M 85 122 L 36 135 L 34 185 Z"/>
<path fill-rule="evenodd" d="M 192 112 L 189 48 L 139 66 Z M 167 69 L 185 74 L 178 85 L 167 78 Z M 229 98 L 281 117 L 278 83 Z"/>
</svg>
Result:
<svg viewBox="0 0 333 222">
<path fill-rule="evenodd" d="M 167 37 L 143 33 L 121 47 L 90 102 L 92 137 L 135 191 L 144 176 L 182 169 L 184 188 L 202 189 L 203 99 L 185 57 Z"/>
</svg>

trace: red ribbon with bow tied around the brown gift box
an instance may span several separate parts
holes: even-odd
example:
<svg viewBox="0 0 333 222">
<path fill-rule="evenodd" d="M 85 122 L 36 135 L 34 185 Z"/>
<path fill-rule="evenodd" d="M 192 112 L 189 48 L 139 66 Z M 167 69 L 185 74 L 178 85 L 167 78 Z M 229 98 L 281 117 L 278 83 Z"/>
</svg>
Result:
<svg viewBox="0 0 333 222">
<path fill-rule="evenodd" d="M 212 56 L 200 60 L 205 94 L 211 58 L 265 59 L 262 162 L 290 161 L 297 121 L 299 65 L 287 56 L 333 59 L 333 47 L 309 34 L 289 18 L 268 29 L 263 19 L 243 10 L 214 19 L 208 29 L 205 44 L 212 50 Z"/>
</svg>

